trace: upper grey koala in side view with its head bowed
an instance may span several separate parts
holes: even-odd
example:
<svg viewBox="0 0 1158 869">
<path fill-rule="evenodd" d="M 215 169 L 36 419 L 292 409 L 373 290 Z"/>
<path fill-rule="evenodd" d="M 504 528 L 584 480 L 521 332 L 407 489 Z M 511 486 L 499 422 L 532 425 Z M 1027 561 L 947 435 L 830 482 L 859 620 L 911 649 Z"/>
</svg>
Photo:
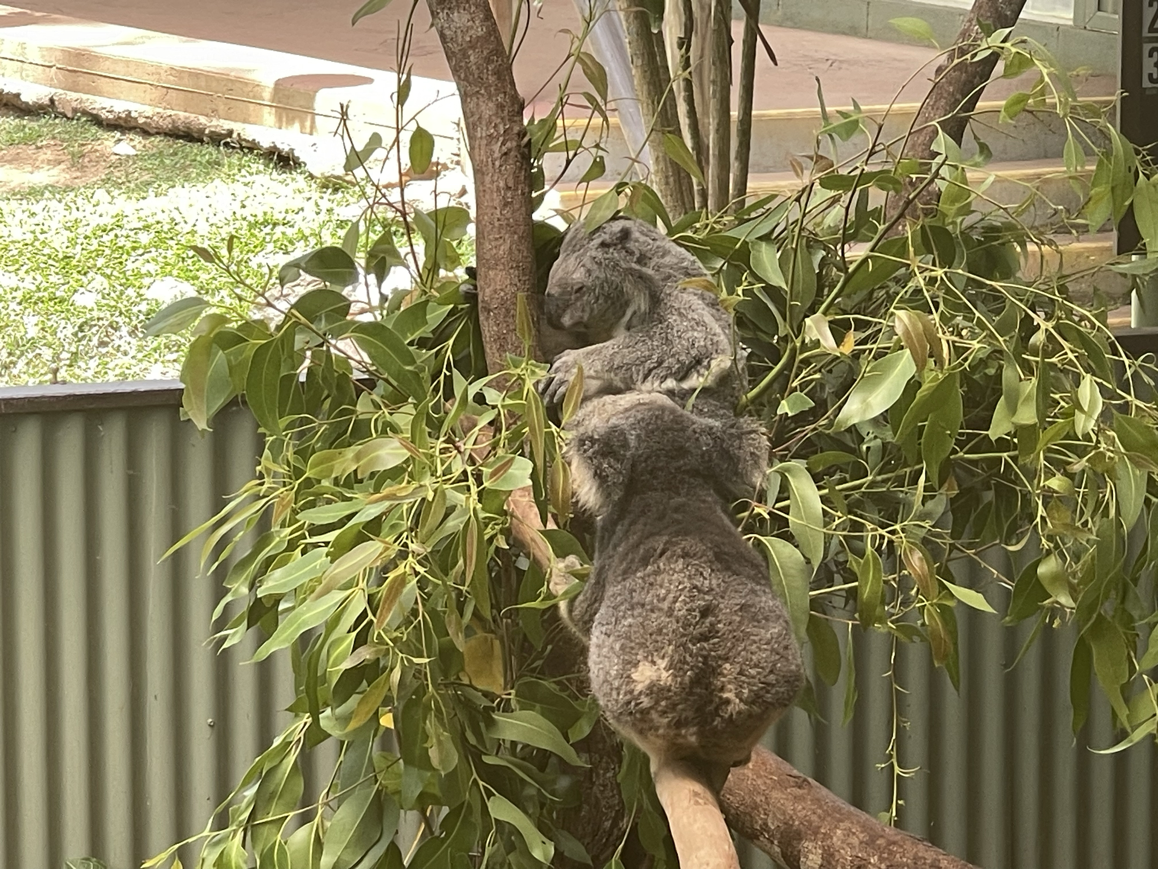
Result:
<svg viewBox="0 0 1158 869">
<path fill-rule="evenodd" d="M 543 298 L 543 319 L 578 349 L 555 356 L 538 389 L 563 401 L 579 366 L 584 395 L 655 392 L 696 412 L 733 414 L 747 387 L 732 320 L 710 292 L 681 287 L 705 277 L 664 233 L 630 218 L 564 234 Z"/>
</svg>

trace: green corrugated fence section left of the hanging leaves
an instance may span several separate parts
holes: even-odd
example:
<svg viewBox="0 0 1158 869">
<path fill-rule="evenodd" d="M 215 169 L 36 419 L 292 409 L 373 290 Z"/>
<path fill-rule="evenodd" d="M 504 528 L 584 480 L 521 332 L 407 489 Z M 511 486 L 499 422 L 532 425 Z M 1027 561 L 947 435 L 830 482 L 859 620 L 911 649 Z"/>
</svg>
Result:
<svg viewBox="0 0 1158 869">
<path fill-rule="evenodd" d="M 261 448 L 247 411 L 203 436 L 178 400 L 173 384 L 0 389 L 7 869 L 139 866 L 199 832 L 288 722 L 284 656 L 244 665 L 252 643 L 205 645 L 220 585 L 198 576 L 198 547 L 157 563 L 250 479 Z M 332 748 L 315 754 L 312 788 Z"/>
</svg>

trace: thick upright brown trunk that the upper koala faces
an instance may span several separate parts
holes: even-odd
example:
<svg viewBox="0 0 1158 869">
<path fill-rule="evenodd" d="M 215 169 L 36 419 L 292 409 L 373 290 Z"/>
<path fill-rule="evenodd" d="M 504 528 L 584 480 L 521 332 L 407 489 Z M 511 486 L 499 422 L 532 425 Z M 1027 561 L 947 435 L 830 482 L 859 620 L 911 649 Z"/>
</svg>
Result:
<svg viewBox="0 0 1158 869">
<path fill-rule="evenodd" d="M 501 371 L 507 355 L 523 355 L 515 329 L 518 298 L 535 290 L 522 97 L 488 0 L 427 0 L 427 6 L 462 102 L 475 171 L 478 321 L 486 365 Z M 527 308 L 534 316 L 534 307 Z M 537 344 L 530 352 L 538 356 Z"/>
</svg>

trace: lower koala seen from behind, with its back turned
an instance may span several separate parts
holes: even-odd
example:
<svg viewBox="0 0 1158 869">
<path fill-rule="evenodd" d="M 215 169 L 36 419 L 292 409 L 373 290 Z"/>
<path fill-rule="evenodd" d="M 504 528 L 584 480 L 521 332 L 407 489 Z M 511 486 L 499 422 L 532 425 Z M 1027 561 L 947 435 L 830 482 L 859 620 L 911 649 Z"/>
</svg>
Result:
<svg viewBox="0 0 1158 869">
<path fill-rule="evenodd" d="M 687 761 L 716 788 L 804 682 L 768 569 L 728 503 L 768 467 L 756 423 L 705 418 L 659 394 L 585 403 L 567 445 L 599 516 L 595 563 L 571 601 L 592 691 L 653 768 Z"/>
</svg>

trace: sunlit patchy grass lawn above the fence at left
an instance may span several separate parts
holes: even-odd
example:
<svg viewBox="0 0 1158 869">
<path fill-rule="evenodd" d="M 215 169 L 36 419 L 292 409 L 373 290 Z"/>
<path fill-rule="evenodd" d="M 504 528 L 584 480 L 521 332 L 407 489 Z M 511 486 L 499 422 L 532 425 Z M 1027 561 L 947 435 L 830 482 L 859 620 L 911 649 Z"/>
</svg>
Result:
<svg viewBox="0 0 1158 869">
<path fill-rule="evenodd" d="M 234 235 L 239 258 L 278 266 L 358 211 L 356 190 L 258 154 L 0 114 L 0 386 L 176 377 L 186 338 L 144 323 L 229 298 L 189 244 Z"/>
</svg>

